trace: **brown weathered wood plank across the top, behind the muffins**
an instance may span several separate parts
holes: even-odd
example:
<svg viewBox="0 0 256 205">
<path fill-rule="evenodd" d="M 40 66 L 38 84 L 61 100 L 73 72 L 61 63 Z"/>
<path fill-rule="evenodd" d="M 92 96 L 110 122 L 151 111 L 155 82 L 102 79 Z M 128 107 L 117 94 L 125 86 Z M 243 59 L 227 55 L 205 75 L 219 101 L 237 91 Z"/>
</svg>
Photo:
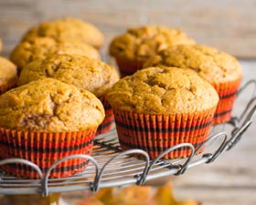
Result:
<svg viewBox="0 0 256 205">
<path fill-rule="evenodd" d="M 198 43 L 251 58 L 256 57 L 255 6 L 254 0 L 1 0 L 0 36 L 7 56 L 28 27 L 42 20 L 70 15 L 99 26 L 106 36 L 105 49 L 112 36 L 127 26 L 146 22 L 184 29 Z"/>
</svg>

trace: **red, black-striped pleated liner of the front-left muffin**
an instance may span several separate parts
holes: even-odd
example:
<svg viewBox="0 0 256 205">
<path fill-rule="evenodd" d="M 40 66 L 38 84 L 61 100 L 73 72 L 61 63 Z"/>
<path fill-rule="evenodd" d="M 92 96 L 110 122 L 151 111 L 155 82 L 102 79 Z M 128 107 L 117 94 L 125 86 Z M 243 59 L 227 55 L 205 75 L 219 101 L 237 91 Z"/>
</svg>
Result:
<svg viewBox="0 0 256 205">
<path fill-rule="evenodd" d="M 69 155 L 91 155 L 96 128 L 78 132 L 43 133 L 0 128 L 0 159 L 27 159 L 46 174 L 49 167 Z M 86 159 L 69 159 L 54 168 L 49 178 L 69 177 L 87 166 Z M 18 178 L 38 179 L 35 169 L 21 163 L 2 169 Z"/>
</svg>

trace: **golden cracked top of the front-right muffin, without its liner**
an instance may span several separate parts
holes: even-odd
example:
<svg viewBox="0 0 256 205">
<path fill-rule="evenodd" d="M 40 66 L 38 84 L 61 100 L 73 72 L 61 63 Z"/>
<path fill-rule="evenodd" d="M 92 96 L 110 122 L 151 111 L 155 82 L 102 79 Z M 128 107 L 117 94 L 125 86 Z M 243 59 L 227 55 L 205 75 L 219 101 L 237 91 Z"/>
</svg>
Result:
<svg viewBox="0 0 256 205">
<path fill-rule="evenodd" d="M 113 109 L 152 115 L 189 114 L 215 108 L 216 90 L 197 73 L 176 67 L 149 67 L 124 77 L 109 90 Z"/>
</svg>

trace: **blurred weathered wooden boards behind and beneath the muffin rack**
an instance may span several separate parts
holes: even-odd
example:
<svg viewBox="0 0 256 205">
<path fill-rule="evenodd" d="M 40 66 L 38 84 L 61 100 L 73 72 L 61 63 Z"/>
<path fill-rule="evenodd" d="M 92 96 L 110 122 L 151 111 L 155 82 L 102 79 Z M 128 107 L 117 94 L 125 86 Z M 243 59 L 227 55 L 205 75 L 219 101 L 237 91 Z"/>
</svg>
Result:
<svg viewBox="0 0 256 205">
<path fill-rule="evenodd" d="M 192 1 L 190 1 L 191 3 Z M 186 5 L 186 6 L 185 6 Z M 61 16 L 76 16 L 101 28 L 106 36 L 106 51 L 112 36 L 127 26 L 144 22 L 184 29 L 197 42 L 216 46 L 238 56 L 243 82 L 256 79 L 256 1 L 93 1 L 93 0 L 0 0 L 0 37 L 4 56 L 19 41 L 28 27 L 39 21 Z M 237 109 L 248 99 L 242 97 Z M 172 177 L 178 198 L 201 200 L 204 205 L 256 204 L 256 118 L 240 143 L 212 164 L 187 170 Z M 66 193 L 70 205 L 82 193 Z M 1 205 L 1 201 L 0 201 Z"/>
</svg>

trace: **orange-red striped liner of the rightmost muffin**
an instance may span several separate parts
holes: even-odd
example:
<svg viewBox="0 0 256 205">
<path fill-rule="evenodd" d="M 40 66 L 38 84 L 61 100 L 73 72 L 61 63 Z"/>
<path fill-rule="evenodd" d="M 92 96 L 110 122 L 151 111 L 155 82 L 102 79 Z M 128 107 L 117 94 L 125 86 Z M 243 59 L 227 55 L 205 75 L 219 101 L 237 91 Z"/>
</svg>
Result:
<svg viewBox="0 0 256 205">
<path fill-rule="evenodd" d="M 232 108 L 240 87 L 240 81 L 241 77 L 231 82 L 213 85 L 219 94 L 219 104 L 213 119 L 214 124 L 227 122 L 231 118 Z"/>
</svg>

